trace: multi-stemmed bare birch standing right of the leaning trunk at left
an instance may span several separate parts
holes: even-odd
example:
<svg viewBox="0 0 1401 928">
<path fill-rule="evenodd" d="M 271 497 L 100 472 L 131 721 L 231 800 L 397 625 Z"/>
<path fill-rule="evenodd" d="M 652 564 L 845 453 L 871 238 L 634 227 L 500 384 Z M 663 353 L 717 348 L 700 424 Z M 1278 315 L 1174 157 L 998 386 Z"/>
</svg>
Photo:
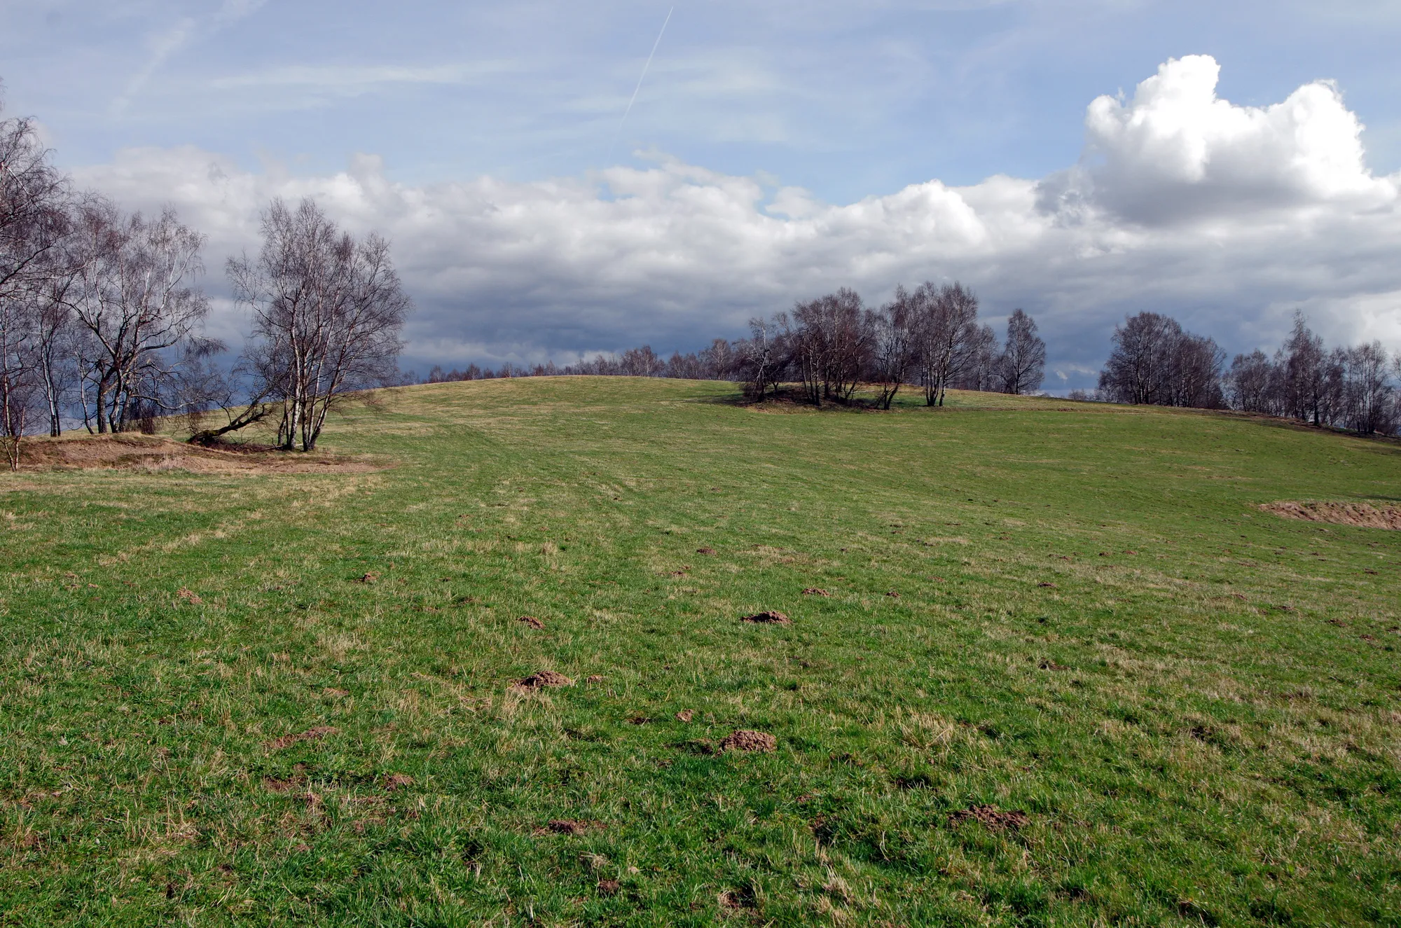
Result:
<svg viewBox="0 0 1401 928">
<path fill-rule="evenodd" d="M 356 241 L 314 200 L 280 199 L 262 216 L 256 261 L 228 261 L 235 297 L 254 313 L 255 394 L 282 404 L 279 444 L 311 451 L 346 391 L 396 381 L 399 332 L 412 304 L 389 245 Z"/>
</svg>

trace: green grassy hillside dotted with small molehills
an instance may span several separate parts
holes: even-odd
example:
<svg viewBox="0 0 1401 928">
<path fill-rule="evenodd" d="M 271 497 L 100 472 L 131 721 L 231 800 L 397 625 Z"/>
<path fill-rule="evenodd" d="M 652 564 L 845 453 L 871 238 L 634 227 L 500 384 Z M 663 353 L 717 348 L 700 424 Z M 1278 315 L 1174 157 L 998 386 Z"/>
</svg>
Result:
<svg viewBox="0 0 1401 928">
<path fill-rule="evenodd" d="M 0 924 L 1401 925 L 1401 533 L 1255 507 L 1401 446 L 954 404 L 478 381 L 335 418 L 384 470 L 0 475 Z"/>
</svg>

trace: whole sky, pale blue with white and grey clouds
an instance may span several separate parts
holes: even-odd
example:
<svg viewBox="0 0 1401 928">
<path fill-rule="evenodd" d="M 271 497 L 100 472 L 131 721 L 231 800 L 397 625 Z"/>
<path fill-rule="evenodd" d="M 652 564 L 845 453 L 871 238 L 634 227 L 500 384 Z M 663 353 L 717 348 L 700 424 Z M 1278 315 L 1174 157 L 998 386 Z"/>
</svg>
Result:
<svg viewBox="0 0 1401 928">
<path fill-rule="evenodd" d="M 4 115 L 205 231 L 231 342 L 226 258 L 270 198 L 312 196 L 391 240 L 419 373 L 695 350 L 838 286 L 954 279 L 995 325 L 1038 321 L 1052 391 L 1091 387 L 1140 310 L 1231 353 L 1296 308 L 1401 349 L 1395 0 L 0 0 L 0 22 Z"/>
</svg>

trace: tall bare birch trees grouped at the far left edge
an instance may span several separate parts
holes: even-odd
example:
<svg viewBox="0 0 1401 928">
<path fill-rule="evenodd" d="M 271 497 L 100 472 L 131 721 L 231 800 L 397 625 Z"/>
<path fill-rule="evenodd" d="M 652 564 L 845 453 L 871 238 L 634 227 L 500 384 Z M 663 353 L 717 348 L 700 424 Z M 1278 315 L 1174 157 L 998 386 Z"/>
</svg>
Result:
<svg viewBox="0 0 1401 928">
<path fill-rule="evenodd" d="M 31 119 L 0 121 L 0 442 L 67 425 L 105 435 L 185 415 L 214 442 L 277 422 L 277 446 L 312 450 L 347 391 L 394 383 L 410 311 L 378 236 L 354 237 L 311 200 L 275 200 L 254 258 L 227 262 L 249 310 L 245 346 L 203 332 L 203 234 L 164 209 L 123 212 L 55 168 Z M 221 416 L 220 419 L 210 419 Z"/>
</svg>

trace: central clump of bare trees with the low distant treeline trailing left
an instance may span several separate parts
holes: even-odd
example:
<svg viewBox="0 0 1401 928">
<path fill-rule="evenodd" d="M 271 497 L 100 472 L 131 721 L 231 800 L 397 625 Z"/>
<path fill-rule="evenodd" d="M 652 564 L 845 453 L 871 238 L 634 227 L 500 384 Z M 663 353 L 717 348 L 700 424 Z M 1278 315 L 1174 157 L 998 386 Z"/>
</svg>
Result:
<svg viewBox="0 0 1401 928">
<path fill-rule="evenodd" d="M 978 321 L 978 297 L 960 283 L 895 287 L 888 303 L 869 308 L 850 289 L 799 301 L 792 311 L 750 321 L 750 336 L 715 339 L 700 352 L 663 360 L 649 345 L 616 357 L 598 355 L 563 367 L 504 366 L 499 371 L 429 371 L 429 383 L 558 374 L 734 380 L 762 401 L 783 384 L 799 384 L 813 405 L 850 404 L 862 384 L 877 387 L 876 405 L 891 407 L 905 384 L 918 384 L 925 402 L 943 405 L 950 388 L 1033 393 L 1045 370 L 1045 342 L 1021 310 L 1007 321 L 1006 341 Z"/>
</svg>

